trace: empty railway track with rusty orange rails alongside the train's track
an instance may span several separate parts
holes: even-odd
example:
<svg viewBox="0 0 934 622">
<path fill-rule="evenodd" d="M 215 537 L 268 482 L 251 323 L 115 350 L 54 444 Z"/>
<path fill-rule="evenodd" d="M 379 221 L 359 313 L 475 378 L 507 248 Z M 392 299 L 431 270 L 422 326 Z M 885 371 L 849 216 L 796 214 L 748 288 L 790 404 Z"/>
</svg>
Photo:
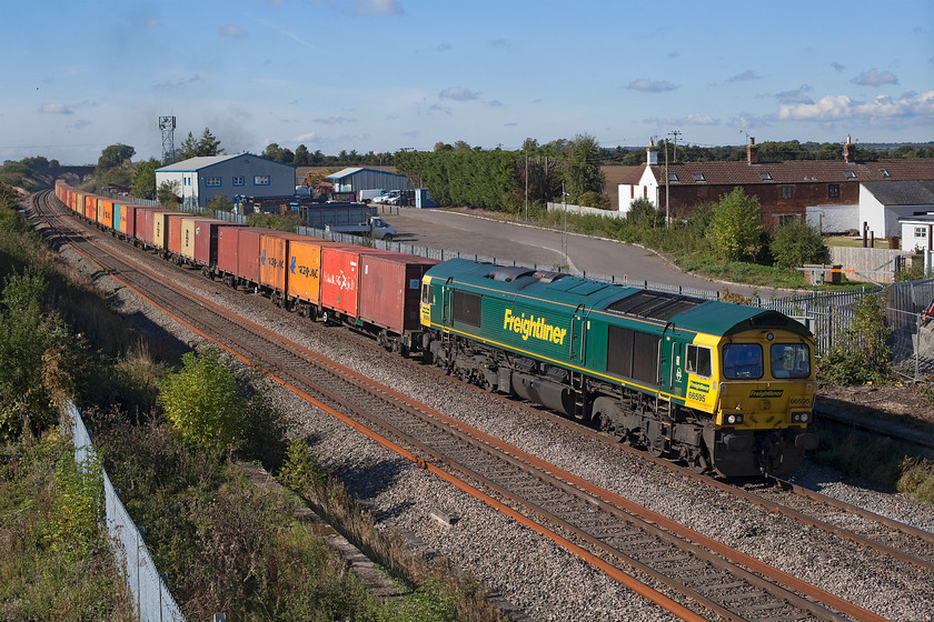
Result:
<svg viewBox="0 0 934 622">
<path fill-rule="evenodd" d="M 42 205 L 37 208 L 46 211 Z M 213 301 L 167 285 L 136 260 L 103 252 L 81 235 L 68 237 L 69 243 L 92 258 L 102 271 L 228 351 L 260 364 L 310 403 L 357 429 L 366 428 L 371 438 L 378 437 L 433 472 L 446 473 L 448 481 L 456 478 L 455 485 L 476 490 L 479 498 L 500 511 L 518 512 L 536 531 L 547 532 L 578 556 L 685 619 L 715 613 L 727 620 L 839 620 L 841 615 L 829 608 L 851 619 L 882 620 L 400 393 L 375 385 L 271 331 L 231 317 Z M 647 581 L 677 595 L 664 595 L 638 584 Z M 686 608 L 685 599 L 695 604 Z"/>
</svg>

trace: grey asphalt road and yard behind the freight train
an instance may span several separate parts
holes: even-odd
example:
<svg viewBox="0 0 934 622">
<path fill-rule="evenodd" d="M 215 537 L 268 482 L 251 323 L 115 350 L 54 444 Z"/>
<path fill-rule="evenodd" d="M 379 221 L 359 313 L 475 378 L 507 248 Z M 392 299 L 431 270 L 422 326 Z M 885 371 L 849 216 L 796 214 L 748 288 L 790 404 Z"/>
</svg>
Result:
<svg viewBox="0 0 934 622">
<path fill-rule="evenodd" d="M 753 288 L 725 284 L 686 274 L 642 247 L 568 233 L 567 259 L 562 233 L 537 227 L 505 223 L 463 212 L 399 208 L 398 214 L 381 214 L 396 228 L 396 240 L 407 244 L 477 253 L 498 261 L 558 269 L 592 277 L 615 277 L 617 282 L 659 283 L 697 290 L 751 295 Z"/>
</svg>

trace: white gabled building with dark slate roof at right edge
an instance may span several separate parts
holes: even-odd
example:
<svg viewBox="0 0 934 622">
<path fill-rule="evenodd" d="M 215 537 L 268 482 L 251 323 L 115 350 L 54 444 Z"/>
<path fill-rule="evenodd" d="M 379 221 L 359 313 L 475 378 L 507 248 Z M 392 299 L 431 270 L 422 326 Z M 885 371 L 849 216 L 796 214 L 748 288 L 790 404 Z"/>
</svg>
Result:
<svg viewBox="0 0 934 622">
<path fill-rule="evenodd" d="M 898 219 L 934 212 L 934 181 L 867 181 L 860 184 L 860 225 L 876 238 L 900 235 Z"/>
</svg>

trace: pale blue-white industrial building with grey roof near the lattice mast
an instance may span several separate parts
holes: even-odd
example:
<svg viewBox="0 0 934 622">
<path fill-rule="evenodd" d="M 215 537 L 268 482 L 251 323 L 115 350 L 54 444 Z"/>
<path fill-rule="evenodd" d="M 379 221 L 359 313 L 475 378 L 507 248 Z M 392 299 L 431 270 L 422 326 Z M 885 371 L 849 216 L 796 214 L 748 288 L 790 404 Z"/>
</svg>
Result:
<svg viewBox="0 0 934 622">
<path fill-rule="evenodd" d="M 203 208 L 218 194 L 234 197 L 290 197 L 295 194 L 295 167 L 252 153 L 189 158 L 156 169 L 156 188 L 177 182 L 182 207 Z"/>
</svg>

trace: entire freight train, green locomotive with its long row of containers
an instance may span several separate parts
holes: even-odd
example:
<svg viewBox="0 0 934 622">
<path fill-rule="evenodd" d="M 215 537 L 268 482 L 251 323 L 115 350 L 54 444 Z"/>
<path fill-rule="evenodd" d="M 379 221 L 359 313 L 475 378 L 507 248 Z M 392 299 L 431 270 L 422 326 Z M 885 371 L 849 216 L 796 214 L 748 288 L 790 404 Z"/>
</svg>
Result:
<svg viewBox="0 0 934 622">
<path fill-rule="evenodd" d="M 786 474 L 817 445 L 814 342 L 776 311 L 240 227 L 62 182 L 56 197 L 168 260 L 698 472 Z"/>
</svg>

